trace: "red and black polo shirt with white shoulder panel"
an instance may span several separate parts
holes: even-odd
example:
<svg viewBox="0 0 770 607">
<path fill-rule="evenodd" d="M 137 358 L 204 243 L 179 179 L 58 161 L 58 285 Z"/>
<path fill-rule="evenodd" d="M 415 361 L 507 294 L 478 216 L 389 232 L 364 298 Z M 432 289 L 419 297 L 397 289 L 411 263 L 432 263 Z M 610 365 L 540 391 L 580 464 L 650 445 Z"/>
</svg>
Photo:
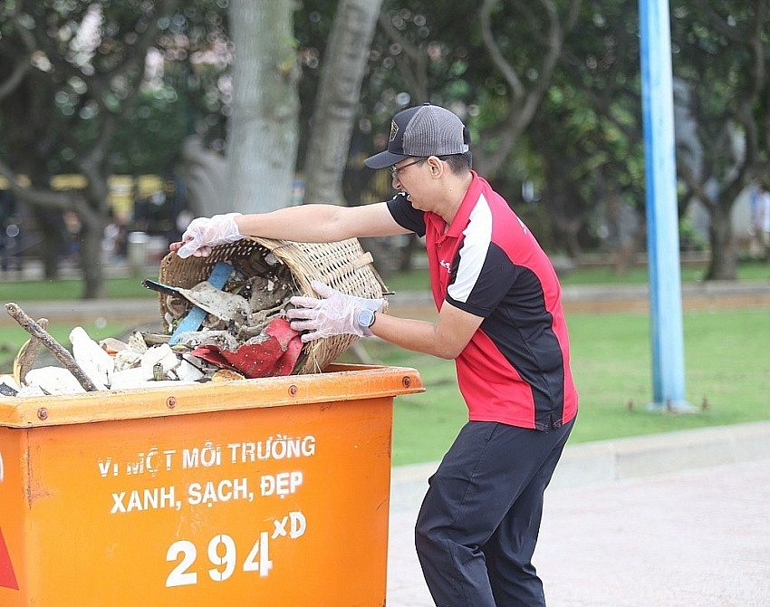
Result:
<svg viewBox="0 0 770 607">
<path fill-rule="evenodd" d="M 532 233 L 484 178 L 473 181 L 448 226 L 399 193 L 388 207 L 425 236 L 433 298 L 484 318 L 457 357 L 472 421 L 559 428 L 577 414 L 570 345 L 553 265 Z"/>
</svg>

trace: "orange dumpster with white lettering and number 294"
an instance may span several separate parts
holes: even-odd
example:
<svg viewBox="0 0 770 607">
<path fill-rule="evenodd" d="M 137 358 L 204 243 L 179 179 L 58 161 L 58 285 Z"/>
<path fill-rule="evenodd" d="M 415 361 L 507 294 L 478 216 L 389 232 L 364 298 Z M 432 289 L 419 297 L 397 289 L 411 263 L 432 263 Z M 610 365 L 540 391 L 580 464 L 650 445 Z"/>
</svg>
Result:
<svg viewBox="0 0 770 607">
<path fill-rule="evenodd" d="M 0 605 L 385 603 L 417 371 L 0 399 Z"/>
</svg>

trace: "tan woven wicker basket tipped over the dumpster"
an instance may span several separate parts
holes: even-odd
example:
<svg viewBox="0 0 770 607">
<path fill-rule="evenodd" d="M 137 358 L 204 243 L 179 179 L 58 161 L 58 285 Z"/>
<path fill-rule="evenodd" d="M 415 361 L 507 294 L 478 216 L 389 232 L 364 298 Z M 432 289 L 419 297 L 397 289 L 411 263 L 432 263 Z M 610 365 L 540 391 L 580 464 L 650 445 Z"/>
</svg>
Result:
<svg viewBox="0 0 770 607">
<path fill-rule="evenodd" d="M 255 249 L 272 253 L 292 273 L 297 290 L 306 296 L 318 296 L 310 286 L 312 280 L 358 297 L 380 298 L 387 292 L 371 254 L 364 252 L 355 238 L 335 243 L 296 243 L 248 237 L 231 245 L 216 246 L 207 257 L 182 259 L 169 253 L 160 262 L 159 281 L 188 289 L 207 280 L 217 261 L 246 257 Z M 160 294 L 159 300 L 161 316 L 166 319 L 170 313 L 169 295 Z M 294 374 L 321 372 L 358 339 L 356 335 L 336 335 L 305 343 Z"/>
</svg>

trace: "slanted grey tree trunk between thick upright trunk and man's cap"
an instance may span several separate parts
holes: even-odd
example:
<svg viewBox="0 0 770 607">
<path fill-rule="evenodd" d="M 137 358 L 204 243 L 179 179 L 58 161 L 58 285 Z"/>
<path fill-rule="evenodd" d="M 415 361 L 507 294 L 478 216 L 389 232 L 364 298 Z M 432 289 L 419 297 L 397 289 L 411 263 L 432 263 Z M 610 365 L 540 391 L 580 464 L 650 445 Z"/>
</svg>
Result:
<svg viewBox="0 0 770 607">
<path fill-rule="evenodd" d="M 342 201 L 342 174 L 381 4 L 381 0 L 340 0 L 337 7 L 305 162 L 305 204 Z"/>
</svg>

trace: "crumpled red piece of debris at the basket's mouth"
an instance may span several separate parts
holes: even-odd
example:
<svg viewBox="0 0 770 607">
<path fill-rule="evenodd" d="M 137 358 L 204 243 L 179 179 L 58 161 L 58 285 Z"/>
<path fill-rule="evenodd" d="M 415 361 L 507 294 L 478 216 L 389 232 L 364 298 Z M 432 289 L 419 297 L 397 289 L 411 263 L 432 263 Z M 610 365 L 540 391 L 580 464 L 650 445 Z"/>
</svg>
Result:
<svg viewBox="0 0 770 607">
<path fill-rule="evenodd" d="M 215 345 L 197 347 L 193 356 L 217 366 L 237 371 L 248 379 L 290 375 L 302 352 L 300 333 L 284 318 L 275 318 L 265 327 L 270 337 L 261 343 L 243 345 L 236 350 L 221 350 Z"/>
</svg>

